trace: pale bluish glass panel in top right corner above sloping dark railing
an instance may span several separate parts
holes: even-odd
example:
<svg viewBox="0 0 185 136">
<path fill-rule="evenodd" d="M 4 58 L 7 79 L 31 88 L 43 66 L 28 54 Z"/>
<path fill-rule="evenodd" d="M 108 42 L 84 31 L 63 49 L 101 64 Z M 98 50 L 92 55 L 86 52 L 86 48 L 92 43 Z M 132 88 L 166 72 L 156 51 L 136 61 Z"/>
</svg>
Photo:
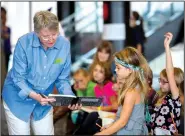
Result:
<svg viewBox="0 0 185 136">
<path fill-rule="evenodd" d="M 184 12 L 184 2 L 131 2 L 131 10 L 143 17 L 144 30 L 149 32 L 162 26 L 177 12 Z"/>
</svg>

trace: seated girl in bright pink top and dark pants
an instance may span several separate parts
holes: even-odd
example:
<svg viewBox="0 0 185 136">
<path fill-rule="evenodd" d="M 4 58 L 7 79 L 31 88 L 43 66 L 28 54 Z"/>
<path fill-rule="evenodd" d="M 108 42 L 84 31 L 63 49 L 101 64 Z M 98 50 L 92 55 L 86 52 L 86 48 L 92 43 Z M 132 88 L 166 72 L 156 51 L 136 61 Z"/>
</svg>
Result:
<svg viewBox="0 0 185 136">
<path fill-rule="evenodd" d="M 118 103 L 116 91 L 112 89 L 113 83 L 111 81 L 112 73 L 110 70 L 110 64 L 105 62 L 93 63 L 91 72 L 92 81 L 97 83 L 94 88 L 95 96 L 103 97 L 103 103 L 100 107 L 89 108 L 97 111 L 101 110 L 115 113 L 118 108 Z M 100 131 L 100 128 L 96 125 L 96 123 L 102 125 L 102 120 L 99 118 L 98 112 L 89 113 L 75 134 L 95 134 Z"/>
</svg>

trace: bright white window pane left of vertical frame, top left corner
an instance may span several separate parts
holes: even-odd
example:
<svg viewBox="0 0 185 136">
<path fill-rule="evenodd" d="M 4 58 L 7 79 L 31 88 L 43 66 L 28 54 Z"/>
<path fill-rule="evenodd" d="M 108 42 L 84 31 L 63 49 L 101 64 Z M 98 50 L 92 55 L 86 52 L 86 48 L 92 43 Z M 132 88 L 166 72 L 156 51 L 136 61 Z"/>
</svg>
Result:
<svg viewBox="0 0 185 136">
<path fill-rule="evenodd" d="M 29 32 L 29 2 L 2 2 L 7 10 L 7 26 L 11 28 L 11 44 L 14 48 L 20 36 Z"/>
</svg>

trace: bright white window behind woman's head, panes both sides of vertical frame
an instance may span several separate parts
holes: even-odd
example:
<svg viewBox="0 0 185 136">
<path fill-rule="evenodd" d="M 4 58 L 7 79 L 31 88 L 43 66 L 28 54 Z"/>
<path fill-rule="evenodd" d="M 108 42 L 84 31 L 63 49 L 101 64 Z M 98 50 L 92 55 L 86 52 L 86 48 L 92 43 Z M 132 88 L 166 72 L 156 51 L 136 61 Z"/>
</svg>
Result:
<svg viewBox="0 0 185 136">
<path fill-rule="evenodd" d="M 37 11 L 49 8 L 54 14 L 57 11 L 56 2 L 2 2 L 2 7 L 7 10 L 7 26 L 12 31 L 11 44 L 13 48 L 20 36 L 33 31 L 33 16 Z M 30 7 L 32 8 L 30 9 Z"/>
</svg>

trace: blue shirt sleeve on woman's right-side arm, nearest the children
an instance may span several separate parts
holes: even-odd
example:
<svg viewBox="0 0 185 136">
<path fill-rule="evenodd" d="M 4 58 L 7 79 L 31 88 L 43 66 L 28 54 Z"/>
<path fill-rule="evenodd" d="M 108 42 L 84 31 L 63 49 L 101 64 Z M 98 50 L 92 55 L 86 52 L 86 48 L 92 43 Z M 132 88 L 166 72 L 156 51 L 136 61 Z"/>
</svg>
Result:
<svg viewBox="0 0 185 136">
<path fill-rule="evenodd" d="M 55 85 L 56 88 L 58 89 L 60 94 L 65 94 L 65 95 L 74 95 L 71 89 L 70 85 L 70 72 L 71 72 L 71 53 L 70 53 L 70 44 L 68 42 L 68 50 L 66 51 L 67 57 L 66 57 L 66 62 L 64 63 L 64 67 L 58 76 Z"/>
</svg>

